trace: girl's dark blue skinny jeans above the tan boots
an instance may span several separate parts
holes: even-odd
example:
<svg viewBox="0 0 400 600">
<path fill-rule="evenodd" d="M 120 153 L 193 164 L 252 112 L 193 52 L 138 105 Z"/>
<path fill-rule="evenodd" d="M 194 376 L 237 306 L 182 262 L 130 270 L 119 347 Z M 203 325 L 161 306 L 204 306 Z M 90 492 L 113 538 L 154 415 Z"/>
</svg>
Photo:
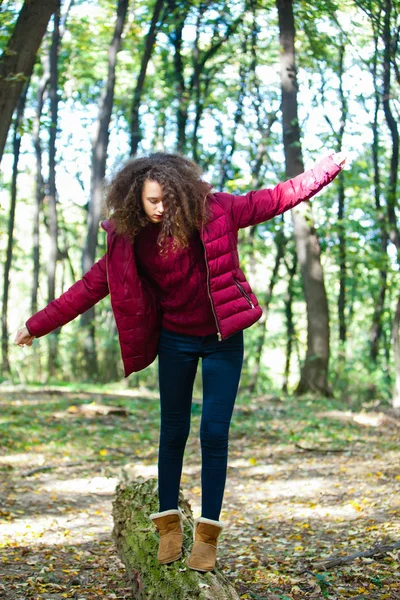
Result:
<svg viewBox="0 0 400 600">
<path fill-rule="evenodd" d="M 199 358 L 203 376 L 202 516 L 218 520 L 226 481 L 229 426 L 243 364 L 243 331 L 219 342 L 216 334 L 184 335 L 162 329 L 158 352 L 161 401 L 158 494 L 160 511 L 177 508 Z"/>
</svg>

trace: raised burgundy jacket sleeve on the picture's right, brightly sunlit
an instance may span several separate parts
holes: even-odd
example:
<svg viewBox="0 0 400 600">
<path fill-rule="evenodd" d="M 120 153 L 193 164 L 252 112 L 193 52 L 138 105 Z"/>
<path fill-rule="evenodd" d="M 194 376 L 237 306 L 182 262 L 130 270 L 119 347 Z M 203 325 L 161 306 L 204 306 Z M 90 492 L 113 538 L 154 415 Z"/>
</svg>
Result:
<svg viewBox="0 0 400 600">
<path fill-rule="evenodd" d="M 312 169 L 271 189 L 251 191 L 244 196 L 217 192 L 219 202 L 230 212 L 236 226 L 258 225 L 308 200 L 328 185 L 341 171 L 332 156 L 317 162 Z"/>
</svg>

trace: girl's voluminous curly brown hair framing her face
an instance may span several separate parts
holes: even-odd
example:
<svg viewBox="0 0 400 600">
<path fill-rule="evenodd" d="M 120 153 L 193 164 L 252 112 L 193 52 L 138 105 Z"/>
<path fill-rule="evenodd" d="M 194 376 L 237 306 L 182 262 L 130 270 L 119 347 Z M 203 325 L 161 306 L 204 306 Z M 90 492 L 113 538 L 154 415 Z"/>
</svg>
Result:
<svg viewBox="0 0 400 600">
<path fill-rule="evenodd" d="M 106 216 L 117 234 L 132 240 L 148 225 L 142 205 L 146 180 L 157 181 L 163 190 L 163 219 L 158 244 L 162 251 L 173 238 L 172 249 L 188 245 L 189 237 L 207 221 L 205 198 L 212 185 L 201 180 L 200 167 L 178 153 L 155 152 L 130 160 L 112 180 L 106 198 Z"/>
</svg>

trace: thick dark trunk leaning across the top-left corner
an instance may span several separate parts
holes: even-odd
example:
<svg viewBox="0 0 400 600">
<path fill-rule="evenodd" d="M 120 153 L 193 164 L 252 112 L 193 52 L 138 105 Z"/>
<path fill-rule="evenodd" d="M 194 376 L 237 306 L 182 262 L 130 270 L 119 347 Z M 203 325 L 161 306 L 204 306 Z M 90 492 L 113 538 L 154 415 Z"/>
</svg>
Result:
<svg viewBox="0 0 400 600">
<path fill-rule="evenodd" d="M 26 0 L 0 58 L 0 162 L 14 108 L 30 77 L 36 53 L 57 0 Z"/>
</svg>

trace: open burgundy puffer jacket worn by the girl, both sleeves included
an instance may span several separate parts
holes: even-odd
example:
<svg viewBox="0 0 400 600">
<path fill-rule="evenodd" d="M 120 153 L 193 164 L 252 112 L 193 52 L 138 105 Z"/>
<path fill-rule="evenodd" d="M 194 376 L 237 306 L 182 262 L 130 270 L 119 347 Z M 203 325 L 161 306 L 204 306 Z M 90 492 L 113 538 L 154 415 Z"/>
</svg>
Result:
<svg viewBox="0 0 400 600">
<path fill-rule="evenodd" d="M 208 293 L 219 339 L 253 325 L 262 314 L 257 298 L 239 266 L 238 230 L 256 225 L 311 198 L 339 173 L 331 157 L 273 189 L 244 196 L 210 193 L 211 218 L 200 237 L 208 272 Z M 151 364 L 157 356 L 161 313 L 151 282 L 138 275 L 132 243 L 115 234 L 111 221 L 107 252 L 92 268 L 43 310 L 26 322 L 31 335 L 41 337 L 65 325 L 110 293 L 125 377 Z"/>
</svg>

